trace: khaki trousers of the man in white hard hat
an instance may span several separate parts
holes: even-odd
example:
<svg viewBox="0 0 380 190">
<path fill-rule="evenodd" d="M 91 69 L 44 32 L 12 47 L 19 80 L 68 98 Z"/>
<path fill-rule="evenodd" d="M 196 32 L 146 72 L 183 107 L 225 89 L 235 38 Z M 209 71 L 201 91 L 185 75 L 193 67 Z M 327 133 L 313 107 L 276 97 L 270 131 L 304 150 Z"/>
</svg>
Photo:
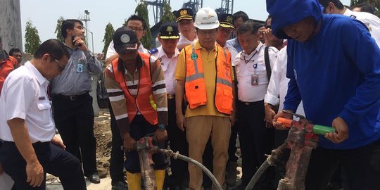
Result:
<svg viewBox="0 0 380 190">
<path fill-rule="evenodd" d="M 202 163 L 202 155 L 205 145 L 211 137 L 213 146 L 213 174 L 223 187 L 226 163 L 228 160 L 229 137 L 231 135 L 231 122 L 229 118 L 200 115 L 186 118 L 186 139 L 189 142 L 189 157 Z M 202 189 L 202 170 L 198 166 L 189 163 L 189 188 Z M 215 186 L 213 186 L 215 189 Z"/>
</svg>

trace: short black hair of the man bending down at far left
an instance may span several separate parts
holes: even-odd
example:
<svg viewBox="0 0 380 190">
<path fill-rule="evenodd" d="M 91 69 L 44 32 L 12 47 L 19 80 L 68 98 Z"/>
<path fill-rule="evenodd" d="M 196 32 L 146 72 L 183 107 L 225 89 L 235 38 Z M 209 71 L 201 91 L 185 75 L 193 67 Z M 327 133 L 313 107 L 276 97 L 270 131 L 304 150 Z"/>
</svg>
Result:
<svg viewBox="0 0 380 190">
<path fill-rule="evenodd" d="M 33 58 L 42 58 L 45 53 L 49 53 L 50 56 L 58 60 L 63 57 L 70 58 L 70 53 L 66 49 L 65 44 L 58 39 L 48 39 L 42 43 L 34 52 Z"/>
</svg>

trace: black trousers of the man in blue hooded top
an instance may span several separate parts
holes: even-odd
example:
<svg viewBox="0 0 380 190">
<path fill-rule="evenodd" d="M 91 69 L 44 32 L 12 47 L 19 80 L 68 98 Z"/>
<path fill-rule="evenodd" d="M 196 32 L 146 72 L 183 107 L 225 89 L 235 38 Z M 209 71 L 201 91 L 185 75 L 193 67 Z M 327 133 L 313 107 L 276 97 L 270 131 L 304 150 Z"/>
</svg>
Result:
<svg viewBox="0 0 380 190">
<path fill-rule="evenodd" d="M 313 150 L 306 175 L 306 189 L 326 189 L 339 165 L 344 190 L 380 189 L 380 140 L 349 150 Z"/>
</svg>

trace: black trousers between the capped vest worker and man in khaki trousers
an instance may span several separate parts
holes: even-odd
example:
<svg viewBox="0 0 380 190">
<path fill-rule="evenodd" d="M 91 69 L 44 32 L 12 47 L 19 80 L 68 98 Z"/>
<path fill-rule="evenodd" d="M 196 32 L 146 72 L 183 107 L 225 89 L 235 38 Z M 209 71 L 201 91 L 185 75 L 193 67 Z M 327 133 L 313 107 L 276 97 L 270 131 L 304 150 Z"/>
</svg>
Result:
<svg viewBox="0 0 380 190">
<path fill-rule="evenodd" d="M 175 99 L 167 99 L 168 125 L 167 136 L 170 143 L 170 149 L 174 152 L 179 151 L 184 156 L 189 156 L 189 145 L 186 141 L 186 132 L 182 132 L 177 127 L 175 116 Z M 165 184 L 167 186 L 180 186 L 186 177 L 189 177 L 187 162 L 184 160 L 170 158 L 170 167 L 172 175 L 167 177 Z"/>
</svg>

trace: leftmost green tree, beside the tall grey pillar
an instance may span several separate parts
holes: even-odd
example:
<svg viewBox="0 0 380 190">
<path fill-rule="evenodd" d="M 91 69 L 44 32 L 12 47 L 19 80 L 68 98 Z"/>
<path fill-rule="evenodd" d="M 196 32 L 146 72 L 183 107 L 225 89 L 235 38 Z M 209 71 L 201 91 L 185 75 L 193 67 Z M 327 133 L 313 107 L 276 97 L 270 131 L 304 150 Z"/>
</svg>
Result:
<svg viewBox="0 0 380 190">
<path fill-rule="evenodd" d="M 31 20 L 27 20 L 25 27 L 25 52 L 33 54 L 41 44 L 38 30 L 33 26 Z"/>
</svg>

